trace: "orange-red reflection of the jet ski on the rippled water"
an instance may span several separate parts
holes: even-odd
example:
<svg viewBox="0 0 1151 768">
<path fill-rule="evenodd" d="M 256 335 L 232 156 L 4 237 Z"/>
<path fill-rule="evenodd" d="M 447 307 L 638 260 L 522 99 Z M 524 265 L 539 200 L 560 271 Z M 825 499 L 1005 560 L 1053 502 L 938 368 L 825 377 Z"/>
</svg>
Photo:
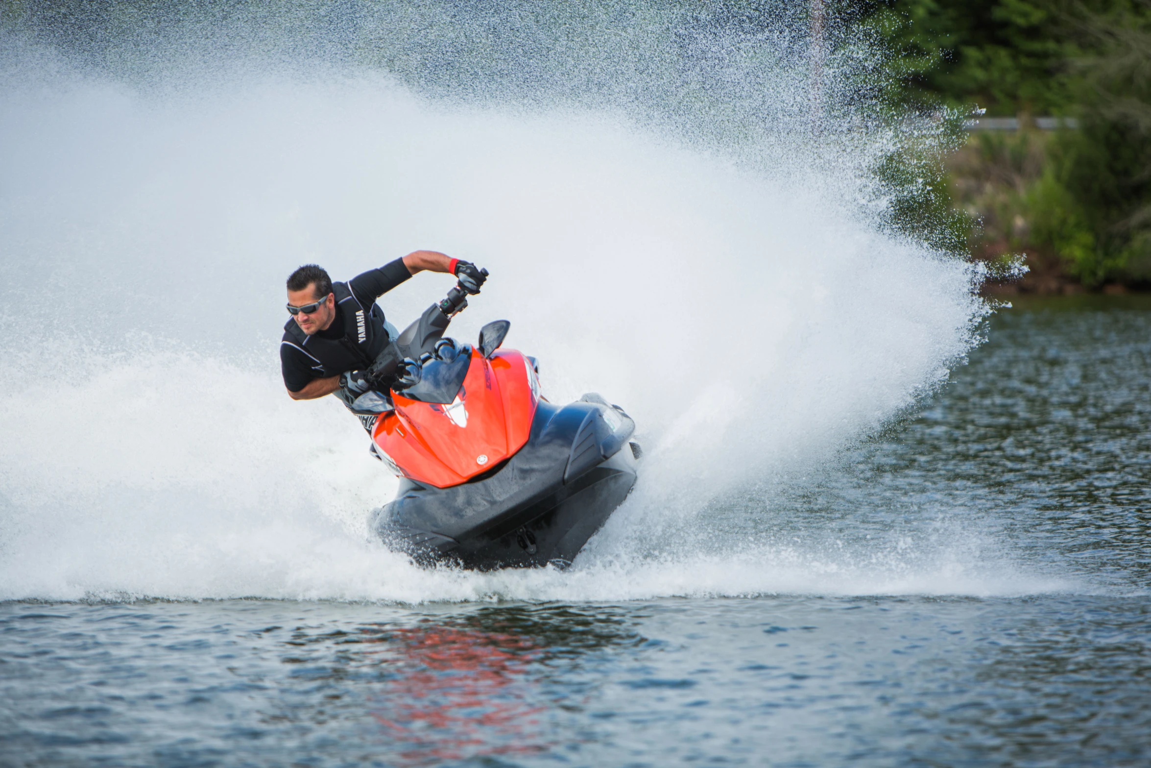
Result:
<svg viewBox="0 0 1151 768">
<path fill-rule="evenodd" d="M 371 630 L 365 630 L 368 632 Z M 373 638 L 394 656 L 384 701 L 372 712 L 410 763 L 539 752 L 547 707 L 525 700 L 538 647 L 498 632 L 444 626 L 390 630 Z"/>
</svg>

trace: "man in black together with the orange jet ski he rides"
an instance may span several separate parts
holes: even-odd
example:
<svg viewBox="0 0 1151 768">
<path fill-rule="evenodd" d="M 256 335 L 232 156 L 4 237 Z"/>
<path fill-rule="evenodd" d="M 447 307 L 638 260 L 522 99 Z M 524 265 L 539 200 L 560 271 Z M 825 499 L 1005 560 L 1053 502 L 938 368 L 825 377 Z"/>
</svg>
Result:
<svg viewBox="0 0 1151 768">
<path fill-rule="evenodd" d="M 419 269 L 459 280 L 396 334 L 374 299 Z M 296 400 L 336 394 L 399 476 L 373 517 L 389 545 L 424 564 L 564 567 L 631 492 L 635 425 L 595 394 L 563 408 L 542 398 L 535 359 L 500 349 L 506 320 L 483 326 L 475 348 L 444 337 L 487 274 L 434 251 L 348 283 L 300 267 L 288 281 L 284 383 Z"/>
</svg>

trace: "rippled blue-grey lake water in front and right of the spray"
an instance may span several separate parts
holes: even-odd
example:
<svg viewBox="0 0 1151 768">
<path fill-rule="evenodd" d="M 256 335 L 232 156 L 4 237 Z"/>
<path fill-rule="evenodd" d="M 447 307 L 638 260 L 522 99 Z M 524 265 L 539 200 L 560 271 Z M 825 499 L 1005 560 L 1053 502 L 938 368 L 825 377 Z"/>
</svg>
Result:
<svg viewBox="0 0 1151 768">
<path fill-rule="evenodd" d="M 669 525 L 744 554 L 634 600 L 556 599 L 577 562 L 541 600 L 0 603 L 0 763 L 1151 763 L 1145 299 L 1003 311 L 921 412 Z"/>
</svg>

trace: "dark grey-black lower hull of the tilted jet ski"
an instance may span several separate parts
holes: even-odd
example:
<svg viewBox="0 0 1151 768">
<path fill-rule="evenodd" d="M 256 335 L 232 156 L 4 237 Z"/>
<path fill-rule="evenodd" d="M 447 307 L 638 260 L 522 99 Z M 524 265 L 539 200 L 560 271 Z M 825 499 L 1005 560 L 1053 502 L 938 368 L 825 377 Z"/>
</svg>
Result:
<svg viewBox="0 0 1151 768">
<path fill-rule="evenodd" d="M 450 488 L 402 478 L 373 525 L 421 564 L 565 567 L 635 485 L 634 428 L 599 395 L 541 402 L 527 443 L 503 465 Z"/>
</svg>

